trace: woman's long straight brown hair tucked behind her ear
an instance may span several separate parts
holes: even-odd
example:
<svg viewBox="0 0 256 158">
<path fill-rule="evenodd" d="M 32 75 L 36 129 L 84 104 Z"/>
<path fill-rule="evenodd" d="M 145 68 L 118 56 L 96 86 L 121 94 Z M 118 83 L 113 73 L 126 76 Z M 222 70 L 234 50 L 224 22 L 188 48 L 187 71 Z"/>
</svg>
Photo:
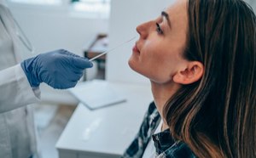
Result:
<svg viewBox="0 0 256 158">
<path fill-rule="evenodd" d="M 200 81 L 165 105 L 172 137 L 199 157 L 256 157 L 256 17 L 242 0 L 189 0 L 184 58 L 201 61 Z"/>
</svg>

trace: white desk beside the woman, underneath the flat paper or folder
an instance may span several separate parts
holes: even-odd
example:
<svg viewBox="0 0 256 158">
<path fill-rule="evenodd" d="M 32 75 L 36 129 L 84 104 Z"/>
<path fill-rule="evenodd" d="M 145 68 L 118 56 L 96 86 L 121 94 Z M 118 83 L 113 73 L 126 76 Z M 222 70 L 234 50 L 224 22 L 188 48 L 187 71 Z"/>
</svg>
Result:
<svg viewBox="0 0 256 158">
<path fill-rule="evenodd" d="M 136 136 L 148 104 L 153 100 L 150 87 L 139 84 L 109 83 L 127 101 L 100 110 L 79 104 L 56 148 L 61 158 L 116 157 L 122 155 Z M 73 156 L 72 156 L 73 155 Z"/>
</svg>

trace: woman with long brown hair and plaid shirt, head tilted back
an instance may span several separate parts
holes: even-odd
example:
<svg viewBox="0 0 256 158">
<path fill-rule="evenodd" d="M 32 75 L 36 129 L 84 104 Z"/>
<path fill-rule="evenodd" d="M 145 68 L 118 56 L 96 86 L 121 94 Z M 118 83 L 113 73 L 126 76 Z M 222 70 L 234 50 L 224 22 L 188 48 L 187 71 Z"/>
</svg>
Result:
<svg viewBox="0 0 256 158">
<path fill-rule="evenodd" d="M 151 81 L 154 103 L 123 157 L 256 157 L 252 8 L 177 0 L 137 32 L 129 65 Z"/>
</svg>

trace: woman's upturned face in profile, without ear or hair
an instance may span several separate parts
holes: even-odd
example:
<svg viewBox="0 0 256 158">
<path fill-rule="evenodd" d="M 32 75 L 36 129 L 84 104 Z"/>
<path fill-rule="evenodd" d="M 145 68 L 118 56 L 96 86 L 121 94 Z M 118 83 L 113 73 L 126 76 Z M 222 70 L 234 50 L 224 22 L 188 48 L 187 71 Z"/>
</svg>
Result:
<svg viewBox="0 0 256 158">
<path fill-rule="evenodd" d="M 187 0 L 177 0 L 156 20 L 137 26 L 140 38 L 129 59 L 131 69 L 153 82 L 172 82 L 172 76 L 186 61 L 183 51 L 187 31 Z"/>
</svg>

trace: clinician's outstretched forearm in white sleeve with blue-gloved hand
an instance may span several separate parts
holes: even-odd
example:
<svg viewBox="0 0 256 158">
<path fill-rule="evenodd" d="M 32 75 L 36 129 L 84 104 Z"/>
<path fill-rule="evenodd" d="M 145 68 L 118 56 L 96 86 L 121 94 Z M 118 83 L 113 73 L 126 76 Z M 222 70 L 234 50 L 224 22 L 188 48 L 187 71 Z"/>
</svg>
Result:
<svg viewBox="0 0 256 158">
<path fill-rule="evenodd" d="M 88 59 L 59 49 L 0 71 L 0 113 L 37 102 L 41 82 L 58 89 L 74 87 L 92 66 Z"/>
</svg>

